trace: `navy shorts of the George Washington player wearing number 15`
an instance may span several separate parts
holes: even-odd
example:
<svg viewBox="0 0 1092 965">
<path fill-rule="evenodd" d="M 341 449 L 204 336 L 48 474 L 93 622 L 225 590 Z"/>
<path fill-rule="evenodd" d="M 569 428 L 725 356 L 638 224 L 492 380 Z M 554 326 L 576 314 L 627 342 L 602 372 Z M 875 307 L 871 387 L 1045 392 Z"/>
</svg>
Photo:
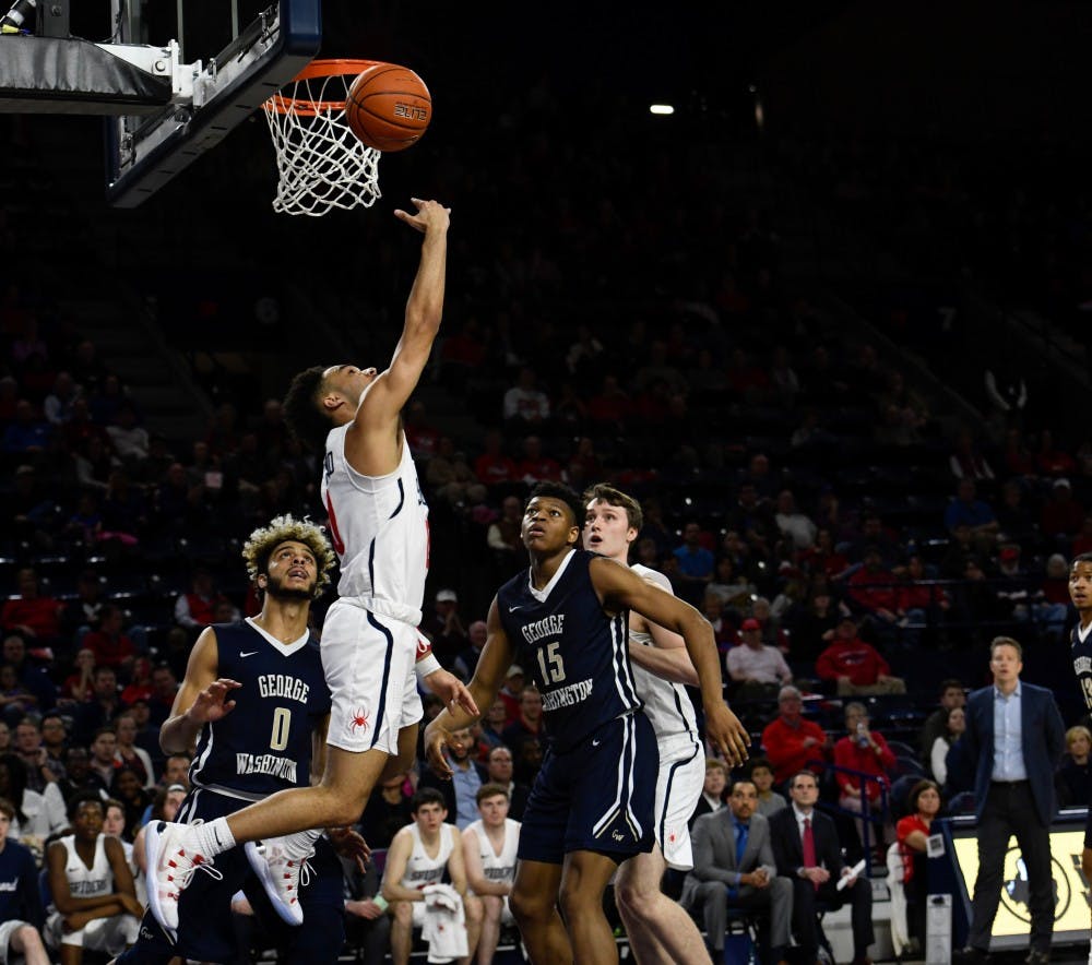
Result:
<svg viewBox="0 0 1092 965">
<path fill-rule="evenodd" d="M 651 851 L 660 752 L 640 711 L 610 720 L 570 750 L 547 750 L 520 829 L 519 857 L 560 865 L 570 851 L 621 862 Z"/>
</svg>

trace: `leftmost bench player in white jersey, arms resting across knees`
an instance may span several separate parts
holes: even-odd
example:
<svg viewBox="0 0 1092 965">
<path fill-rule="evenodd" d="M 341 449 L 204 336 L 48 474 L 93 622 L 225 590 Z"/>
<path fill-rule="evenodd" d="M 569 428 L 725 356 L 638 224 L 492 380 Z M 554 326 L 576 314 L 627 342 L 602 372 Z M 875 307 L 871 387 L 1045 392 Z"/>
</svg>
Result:
<svg viewBox="0 0 1092 965">
<path fill-rule="evenodd" d="M 121 842 L 103 833 L 103 802 L 76 795 L 68 814 L 72 833 L 47 853 L 55 910 L 45 934 L 66 965 L 79 965 L 84 949 L 118 955 L 136 941 L 144 909 Z"/>
</svg>

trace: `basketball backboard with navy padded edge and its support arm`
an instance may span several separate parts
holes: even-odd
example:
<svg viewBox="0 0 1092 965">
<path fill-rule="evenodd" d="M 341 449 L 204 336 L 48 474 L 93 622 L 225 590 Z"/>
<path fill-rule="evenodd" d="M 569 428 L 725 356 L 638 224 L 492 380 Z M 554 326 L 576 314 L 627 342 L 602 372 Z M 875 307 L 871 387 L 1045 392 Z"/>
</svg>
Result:
<svg viewBox="0 0 1092 965">
<path fill-rule="evenodd" d="M 73 0 L 22 3 L 22 29 L 9 14 L 0 37 L 0 112 L 104 115 L 106 192 L 119 207 L 219 143 L 322 39 L 321 0 L 110 0 L 109 23 L 81 22 L 75 7 L 71 25 Z"/>
</svg>

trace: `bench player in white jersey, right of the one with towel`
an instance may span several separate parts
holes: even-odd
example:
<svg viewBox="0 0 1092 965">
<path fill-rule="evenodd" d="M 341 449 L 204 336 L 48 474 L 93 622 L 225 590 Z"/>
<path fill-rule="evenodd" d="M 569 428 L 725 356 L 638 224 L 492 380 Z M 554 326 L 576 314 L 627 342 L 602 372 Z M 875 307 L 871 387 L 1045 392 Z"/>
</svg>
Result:
<svg viewBox="0 0 1092 965">
<path fill-rule="evenodd" d="M 515 881 L 520 822 L 509 817 L 508 791 L 500 784 L 478 788 L 477 811 L 480 817 L 463 831 L 463 858 L 466 883 L 482 902 L 482 933 L 475 961 L 489 963 L 497 952 L 500 926 L 515 922 L 508 896 Z"/>
</svg>

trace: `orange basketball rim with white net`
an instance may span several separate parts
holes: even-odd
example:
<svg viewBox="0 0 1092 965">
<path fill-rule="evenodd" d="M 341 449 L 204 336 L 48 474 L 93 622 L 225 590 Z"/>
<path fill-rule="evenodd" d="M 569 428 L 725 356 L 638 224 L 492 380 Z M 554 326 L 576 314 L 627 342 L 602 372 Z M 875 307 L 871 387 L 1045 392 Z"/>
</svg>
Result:
<svg viewBox="0 0 1092 965">
<path fill-rule="evenodd" d="M 273 210 L 319 217 L 370 207 L 380 196 L 379 152 L 345 122 L 354 79 L 373 60 L 312 60 L 263 105 L 276 151 Z"/>
</svg>

